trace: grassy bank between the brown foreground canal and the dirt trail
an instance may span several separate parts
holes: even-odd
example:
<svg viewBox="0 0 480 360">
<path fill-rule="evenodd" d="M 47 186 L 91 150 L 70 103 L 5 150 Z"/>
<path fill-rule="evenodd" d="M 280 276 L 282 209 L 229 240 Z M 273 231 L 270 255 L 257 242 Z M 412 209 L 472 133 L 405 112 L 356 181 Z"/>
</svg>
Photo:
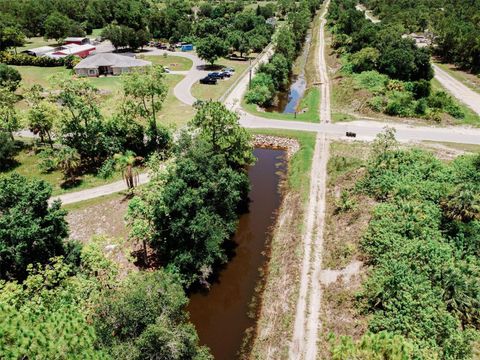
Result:
<svg viewBox="0 0 480 360">
<path fill-rule="evenodd" d="M 315 134 L 258 129 L 250 132 L 288 137 L 300 143 L 300 150 L 288 164 L 282 205 L 270 243 L 256 337 L 249 356 L 252 359 L 286 359 L 298 296 L 303 216 L 308 199 Z"/>
</svg>

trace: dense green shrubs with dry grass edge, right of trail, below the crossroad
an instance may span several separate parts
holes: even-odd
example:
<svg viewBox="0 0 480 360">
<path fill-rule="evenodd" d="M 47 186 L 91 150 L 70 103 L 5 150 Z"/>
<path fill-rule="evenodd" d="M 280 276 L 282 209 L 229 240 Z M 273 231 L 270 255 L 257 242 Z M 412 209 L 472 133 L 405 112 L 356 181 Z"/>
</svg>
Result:
<svg viewBox="0 0 480 360">
<path fill-rule="evenodd" d="M 377 138 L 367 159 L 332 158 L 330 181 L 342 187 L 330 195 L 335 222 L 341 220 L 339 234 L 347 227 L 358 236 L 327 241 L 336 260 L 327 258 L 326 266 L 343 279 L 327 287 L 324 300 L 335 335 L 328 356 L 474 357 L 478 162 L 478 154 L 442 162 L 425 150 L 399 148 L 392 131 Z M 342 256 L 346 262 L 337 263 Z M 363 270 L 347 274 L 359 261 Z"/>
</svg>

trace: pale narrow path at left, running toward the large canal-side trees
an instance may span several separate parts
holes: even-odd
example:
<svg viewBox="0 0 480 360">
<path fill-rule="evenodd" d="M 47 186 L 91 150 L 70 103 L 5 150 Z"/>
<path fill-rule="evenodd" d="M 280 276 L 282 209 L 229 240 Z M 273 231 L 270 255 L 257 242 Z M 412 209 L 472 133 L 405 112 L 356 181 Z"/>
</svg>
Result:
<svg viewBox="0 0 480 360">
<path fill-rule="evenodd" d="M 150 181 L 148 174 L 140 174 L 138 176 L 138 185 L 146 184 Z M 73 204 L 80 201 L 95 199 L 100 196 L 115 194 L 120 191 L 127 190 L 125 181 L 116 181 L 111 184 L 97 186 L 91 189 L 75 191 L 72 193 L 51 197 L 48 201 L 50 204 L 55 200 L 60 200 L 63 205 Z"/>
</svg>

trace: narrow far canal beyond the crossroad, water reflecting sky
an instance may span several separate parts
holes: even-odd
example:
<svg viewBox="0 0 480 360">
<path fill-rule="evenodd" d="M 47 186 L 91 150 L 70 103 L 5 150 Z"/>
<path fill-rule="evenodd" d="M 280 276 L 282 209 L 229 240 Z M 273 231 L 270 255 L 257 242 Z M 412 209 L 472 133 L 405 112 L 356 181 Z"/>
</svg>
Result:
<svg viewBox="0 0 480 360">
<path fill-rule="evenodd" d="M 307 89 L 307 80 L 305 78 L 305 66 L 307 63 L 308 52 L 310 50 L 311 34 L 308 33 L 303 51 L 300 55 L 300 74 L 292 75 L 290 78 L 290 86 L 288 91 L 279 92 L 277 94 L 277 101 L 274 106 L 265 108 L 267 112 L 280 112 L 283 114 L 293 114 L 297 111 L 300 101 Z"/>
</svg>

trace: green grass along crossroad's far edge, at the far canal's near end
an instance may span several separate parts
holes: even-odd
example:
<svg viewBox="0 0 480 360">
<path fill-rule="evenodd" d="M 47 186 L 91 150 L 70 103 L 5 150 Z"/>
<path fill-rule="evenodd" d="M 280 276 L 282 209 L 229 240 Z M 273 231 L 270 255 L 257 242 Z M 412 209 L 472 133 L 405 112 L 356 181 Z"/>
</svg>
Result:
<svg viewBox="0 0 480 360">
<path fill-rule="evenodd" d="M 295 114 L 282 114 L 277 112 L 259 111 L 257 105 L 247 104 L 245 99 L 242 100 L 242 108 L 257 116 L 261 116 L 267 119 L 278 120 L 297 120 L 305 122 L 319 122 L 320 115 L 318 113 L 320 107 L 320 89 L 312 87 L 305 92 L 305 95 L 300 102 L 301 113 Z"/>
</svg>

